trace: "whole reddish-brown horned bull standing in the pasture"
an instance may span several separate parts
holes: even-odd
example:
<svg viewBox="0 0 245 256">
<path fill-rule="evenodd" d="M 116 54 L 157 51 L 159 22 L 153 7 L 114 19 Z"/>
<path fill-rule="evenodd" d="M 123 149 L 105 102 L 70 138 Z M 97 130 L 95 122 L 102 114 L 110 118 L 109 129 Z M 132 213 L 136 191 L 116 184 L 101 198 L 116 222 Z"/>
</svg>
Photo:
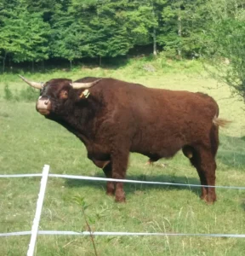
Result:
<svg viewBox="0 0 245 256">
<path fill-rule="evenodd" d="M 152 162 L 182 149 L 201 184 L 215 185 L 219 125 L 225 121 L 218 119 L 212 97 L 117 79 L 52 79 L 45 84 L 24 80 L 41 91 L 37 111 L 75 134 L 106 177 L 125 177 L 129 152 Z M 123 183 L 108 182 L 106 193 L 125 201 Z M 214 202 L 215 189 L 202 187 L 201 198 Z"/>
</svg>

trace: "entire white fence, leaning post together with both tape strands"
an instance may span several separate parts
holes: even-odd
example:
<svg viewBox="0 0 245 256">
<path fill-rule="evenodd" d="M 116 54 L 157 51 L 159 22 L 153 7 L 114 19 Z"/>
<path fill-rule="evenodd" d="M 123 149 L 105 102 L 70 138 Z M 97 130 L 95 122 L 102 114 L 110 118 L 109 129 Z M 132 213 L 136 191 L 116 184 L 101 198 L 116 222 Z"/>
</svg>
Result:
<svg viewBox="0 0 245 256">
<path fill-rule="evenodd" d="M 158 184 L 158 185 L 174 185 L 174 186 L 187 186 L 187 187 L 209 187 L 217 189 L 245 189 L 245 187 L 235 187 L 235 186 L 208 186 L 200 184 L 188 184 L 188 183 L 162 183 L 162 182 L 150 182 L 150 181 L 138 181 L 138 180 L 128 180 L 128 179 L 114 179 L 105 177 L 88 177 L 88 176 L 77 176 L 77 175 L 63 175 L 63 174 L 48 174 L 49 166 L 43 167 L 43 174 L 32 173 L 32 174 L 10 174 L 10 175 L 0 175 L 0 177 L 43 177 L 41 180 L 40 192 L 37 200 L 37 210 L 33 221 L 31 231 L 20 231 L 12 233 L 0 233 L 1 236 L 29 236 L 31 235 L 31 241 L 29 245 L 29 250 L 27 256 L 32 256 L 34 253 L 37 234 L 38 235 L 57 235 L 57 236 L 207 236 L 207 237 L 233 237 L 233 238 L 245 238 L 245 234 L 188 234 L 188 233 L 134 233 L 134 232 L 75 232 L 75 231 L 55 231 L 55 230 L 38 230 L 39 221 L 41 217 L 43 199 L 45 195 L 45 189 L 48 181 L 48 177 L 61 177 L 61 178 L 71 178 L 80 180 L 90 180 L 90 181 L 111 181 L 111 182 L 122 182 L 122 183 L 145 183 L 145 184 Z"/>
</svg>

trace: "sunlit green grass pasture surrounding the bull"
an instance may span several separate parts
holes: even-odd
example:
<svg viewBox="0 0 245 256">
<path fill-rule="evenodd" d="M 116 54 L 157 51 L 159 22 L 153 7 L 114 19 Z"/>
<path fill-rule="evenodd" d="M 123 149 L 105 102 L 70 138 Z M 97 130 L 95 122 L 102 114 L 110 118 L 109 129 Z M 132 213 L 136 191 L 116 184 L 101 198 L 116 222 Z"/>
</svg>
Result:
<svg viewBox="0 0 245 256">
<path fill-rule="evenodd" d="M 158 68 L 162 65 L 161 69 Z M 144 62 L 125 67 L 77 67 L 71 72 L 22 73 L 30 79 L 78 79 L 111 76 L 172 90 L 202 91 L 219 103 L 220 117 L 231 125 L 220 130 L 217 185 L 245 186 L 244 104 L 231 97 L 227 86 L 208 78 L 195 61 L 162 63 L 147 72 Z M 60 125 L 36 112 L 35 102 L 6 101 L 4 86 L 26 88 L 15 74 L 0 76 L 0 174 L 50 172 L 104 177 L 86 157 L 83 144 Z M 159 116 L 161 119 L 161 116 Z M 196 170 L 181 152 L 172 160 L 145 166 L 147 158 L 131 154 L 128 179 L 199 184 Z M 161 166 L 164 164 L 164 166 Z M 40 177 L 0 178 L 0 233 L 31 230 Z M 87 230 L 81 207 L 88 205 L 88 223 L 94 231 L 229 233 L 245 234 L 245 190 L 217 189 L 218 201 L 208 206 L 199 199 L 200 189 L 178 186 L 125 184 L 126 204 L 105 195 L 105 183 L 49 177 L 40 230 Z M 0 237 L 0 255 L 26 255 L 30 236 Z M 245 239 L 193 236 L 96 236 L 99 255 L 245 255 Z M 38 236 L 37 255 L 94 255 L 89 237 Z"/>
</svg>

